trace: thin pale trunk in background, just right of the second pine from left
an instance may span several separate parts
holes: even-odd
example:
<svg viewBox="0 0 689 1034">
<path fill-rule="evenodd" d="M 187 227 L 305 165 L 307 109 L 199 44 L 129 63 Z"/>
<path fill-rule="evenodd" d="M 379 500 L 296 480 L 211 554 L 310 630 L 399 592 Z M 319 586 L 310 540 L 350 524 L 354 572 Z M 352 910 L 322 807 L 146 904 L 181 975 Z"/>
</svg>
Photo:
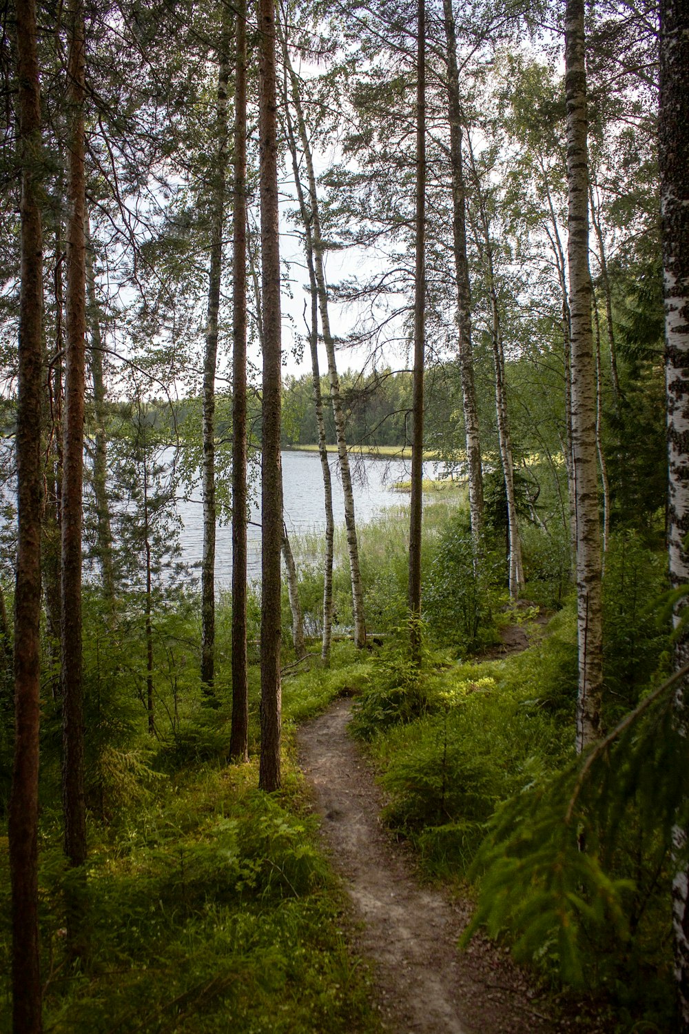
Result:
<svg viewBox="0 0 689 1034">
<path fill-rule="evenodd" d="M 91 381 L 96 424 L 93 456 L 93 491 L 96 497 L 98 528 L 98 561 L 103 580 L 103 597 L 111 610 L 115 608 L 115 567 L 113 564 L 113 533 L 107 501 L 107 432 L 105 428 L 105 382 L 103 381 L 103 344 L 100 334 L 100 309 L 96 297 L 93 267 L 93 245 L 89 220 L 86 220 L 86 298 L 91 327 Z"/>
</svg>

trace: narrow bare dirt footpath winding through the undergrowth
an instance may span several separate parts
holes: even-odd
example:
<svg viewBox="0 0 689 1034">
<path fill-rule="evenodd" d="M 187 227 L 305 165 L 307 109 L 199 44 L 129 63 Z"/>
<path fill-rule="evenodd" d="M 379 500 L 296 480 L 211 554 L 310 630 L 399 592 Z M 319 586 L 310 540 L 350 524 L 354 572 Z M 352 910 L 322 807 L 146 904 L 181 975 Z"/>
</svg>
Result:
<svg viewBox="0 0 689 1034">
<path fill-rule="evenodd" d="M 528 645 L 520 627 L 492 656 Z M 297 733 L 322 835 L 358 921 L 355 949 L 373 969 L 383 1030 L 395 1034 L 551 1034 L 604 1031 L 591 1005 L 554 1005 L 508 952 L 480 935 L 458 940 L 472 905 L 425 884 L 408 848 L 384 827 L 375 773 L 347 731 L 351 700 L 338 699 Z"/>
</svg>

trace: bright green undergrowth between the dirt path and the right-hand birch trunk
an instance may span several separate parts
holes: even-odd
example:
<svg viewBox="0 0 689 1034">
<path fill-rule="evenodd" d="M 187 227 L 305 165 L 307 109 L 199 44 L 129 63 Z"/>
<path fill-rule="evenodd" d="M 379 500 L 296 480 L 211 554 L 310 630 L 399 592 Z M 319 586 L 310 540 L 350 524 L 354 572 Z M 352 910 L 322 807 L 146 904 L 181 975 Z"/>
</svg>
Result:
<svg viewBox="0 0 689 1034">
<path fill-rule="evenodd" d="M 571 612 L 504 660 L 456 664 L 428 653 L 374 662 L 352 730 L 370 740 L 385 819 L 426 872 L 462 879 L 501 801 L 572 754 L 576 696 Z"/>
</svg>

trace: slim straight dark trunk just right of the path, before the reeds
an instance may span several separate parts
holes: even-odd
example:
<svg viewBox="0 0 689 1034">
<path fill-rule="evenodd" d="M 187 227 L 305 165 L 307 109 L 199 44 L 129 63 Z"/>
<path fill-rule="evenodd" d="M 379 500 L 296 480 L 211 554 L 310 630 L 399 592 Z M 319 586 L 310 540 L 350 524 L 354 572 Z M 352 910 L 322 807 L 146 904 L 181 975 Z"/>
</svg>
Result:
<svg viewBox="0 0 689 1034">
<path fill-rule="evenodd" d="M 412 388 L 409 616 L 411 657 L 421 659 L 421 519 L 424 498 L 424 362 L 426 352 L 426 4 L 418 0 L 416 30 L 416 217 L 414 368 Z"/>
</svg>

